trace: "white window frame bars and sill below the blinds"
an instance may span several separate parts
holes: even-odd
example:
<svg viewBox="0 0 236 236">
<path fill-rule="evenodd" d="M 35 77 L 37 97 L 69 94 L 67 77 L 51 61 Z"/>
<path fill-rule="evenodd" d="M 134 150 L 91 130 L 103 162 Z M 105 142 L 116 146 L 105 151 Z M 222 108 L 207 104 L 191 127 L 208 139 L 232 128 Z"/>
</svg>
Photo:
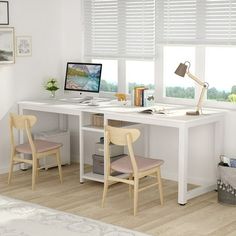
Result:
<svg viewBox="0 0 236 236">
<path fill-rule="evenodd" d="M 165 97 L 165 86 L 164 86 L 164 77 L 163 77 L 163 66 L 164 66 L 164 46 L 159 45 L 157 47 L 158 57 L 154 61 L 154 86 L 155 86 L 155 98 L 158 103 L 167 103 L 167 104 L 176 104 L 176 105 L 187 105 L 187 106 L 196 106 L 200 93 L 201 87 L 198 86 L 193 81 L 193 87 L 195 88 L 195 98 L 193 99 L 185 99 L 185 98 L 174 98 L 174 97 Z M 189 47 L 191 45 L 172 45 L 172 46 L 186 46 Z M 195 47 L 195 73 L 198 77 L 205 81 L 205 49 L 209 47 L 209 45 L 192 45 Z M 212 45 L 215 47 L 216 45 Z M 233 47 L 233 46 L 219 46 L 219 47 Z M 94 58 L 95 59 L 95 58 Z M 104 60 L 109 60 L 107 58 L 99 58 Z M 127 59 L 128 60 L 128 59 Z M 126 80 L 126 59 L 117 59 L 118 66 L 118 91 L 124 92 L 128 94 L 128 81 Z M 174 72 L 173 72 L 174 73 Z M 116 92 L 106 92 L 100 91 L 100 95 L 102 97 L 112 98 Z M 207 99 L 207 93 L 204 97 L 203 107 L 212 107 L 212 108 L 225 108 L 236 110 L 236 104 L 225 102 L 225 101 L 216 101 Z"/>
</svg>

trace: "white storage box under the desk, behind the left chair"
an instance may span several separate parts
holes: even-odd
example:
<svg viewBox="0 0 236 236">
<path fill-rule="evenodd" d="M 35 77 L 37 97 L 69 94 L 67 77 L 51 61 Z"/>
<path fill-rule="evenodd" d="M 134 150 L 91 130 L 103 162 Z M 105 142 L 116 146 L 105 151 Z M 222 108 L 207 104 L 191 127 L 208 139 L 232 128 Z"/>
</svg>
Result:
<svg viewBox="0 0 236 236">
<path fill-rule="evenodd" d="M 61 164 L 70 164 L 70 132 L 65 130 L 52 130 L 34 134 L 35 139 L 42 139 L 51 142 L 62 143 Z M 41 158 L 40 167 L 48 169 L 57 166 L 55 157 Z"/>
</svg>

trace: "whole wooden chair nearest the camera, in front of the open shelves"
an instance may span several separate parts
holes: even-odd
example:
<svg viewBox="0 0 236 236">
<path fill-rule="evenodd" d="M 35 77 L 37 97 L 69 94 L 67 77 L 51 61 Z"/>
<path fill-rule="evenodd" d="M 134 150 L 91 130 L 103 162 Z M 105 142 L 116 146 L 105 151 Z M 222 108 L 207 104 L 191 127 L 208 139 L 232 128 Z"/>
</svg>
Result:
<svg viewBox="0 0 236 236">
<path fill-rule="evenodd" d="M 160 166 L 164 163 L 163 160 L 143 158 L 134 155 L 132 143 L 134 143 L 140 136 L 138 129 L 115 128 L 111 126 L 105 127 L 105 176 L 104 176 L 104 190 L 102 198 L 102 207 L 104 207 L 105 197 L 107 195 L 109 185 L 116 182 L 129 184 L 129 191 L 131 195 L 131 187 L 134 188 L 134 216 L 137 214 L 138 206 L 138 192 L 147 188 L 158 185 L 160 193 L 160 202 L 163 205 L 163 191 L 161 182 Z M 111 163 L 109 144 L 128 146 L 129 156 L 122 157 Z M 129 179 L 112 176 L 112 171 L 129 174 Z M 145 176 L 155 175 L 157 182 L 143 188 L 139 188 L 139 180 Z"/>
</svg>

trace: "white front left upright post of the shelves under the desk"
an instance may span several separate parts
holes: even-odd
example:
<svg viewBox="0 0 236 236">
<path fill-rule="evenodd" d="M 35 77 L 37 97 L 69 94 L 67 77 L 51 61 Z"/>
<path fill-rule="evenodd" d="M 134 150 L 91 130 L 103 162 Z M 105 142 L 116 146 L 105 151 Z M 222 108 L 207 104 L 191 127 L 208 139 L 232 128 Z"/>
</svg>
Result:
<svg viewBox="0 0 236 236">
<path fill-rule="evenodd" d="M 84 134 L 83 134 L 83 112 L 81 112 L 81 115 L 79 117 L 79 150 L 80 150 L 80 161 L 79 161 L 79 167 L 80 167 L 80 183 L 84 183 Z"/>
</svg>

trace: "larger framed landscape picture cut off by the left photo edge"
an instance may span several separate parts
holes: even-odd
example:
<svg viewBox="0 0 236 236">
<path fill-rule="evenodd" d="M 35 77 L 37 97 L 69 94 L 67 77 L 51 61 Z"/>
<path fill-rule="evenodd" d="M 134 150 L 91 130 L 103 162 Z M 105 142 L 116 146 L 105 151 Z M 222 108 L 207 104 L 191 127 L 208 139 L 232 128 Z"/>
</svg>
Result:
<svg viewBox="0 0 236 236">
<path fill-rule="evenodd" d="M 15 63 L 14 28 L 0 27 L 0 64 Z"/>
</svg>

